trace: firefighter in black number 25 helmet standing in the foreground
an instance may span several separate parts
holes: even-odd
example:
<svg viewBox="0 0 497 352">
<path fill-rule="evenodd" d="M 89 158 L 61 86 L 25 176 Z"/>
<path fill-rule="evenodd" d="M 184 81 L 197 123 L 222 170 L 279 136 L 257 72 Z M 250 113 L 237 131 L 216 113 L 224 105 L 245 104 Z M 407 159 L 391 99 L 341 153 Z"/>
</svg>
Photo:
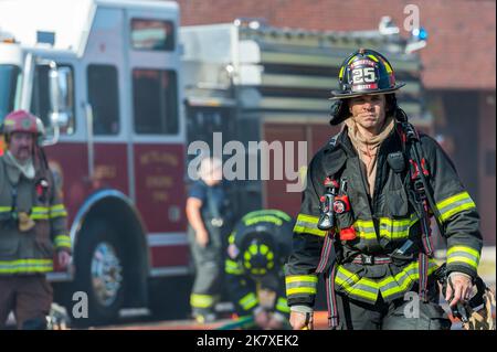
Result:
<svg viewBox="0 0 497 352">
<path fill-rule="evenodd" d="M 452 161 L 398 106 L 402 86 L 372 50 L 355 52 L 339 71 L 330 124 L 343 126 L 310 161 L 286 266 L 294 329 L 313 328 L 321 274 L 331 329 L 448 329 L 431 218 L 447 241 L 445 298 L 451 307 L 470 298 L 479 215 Z M 419 311 L 405 313 L 414 299 Z"/>
</svg>

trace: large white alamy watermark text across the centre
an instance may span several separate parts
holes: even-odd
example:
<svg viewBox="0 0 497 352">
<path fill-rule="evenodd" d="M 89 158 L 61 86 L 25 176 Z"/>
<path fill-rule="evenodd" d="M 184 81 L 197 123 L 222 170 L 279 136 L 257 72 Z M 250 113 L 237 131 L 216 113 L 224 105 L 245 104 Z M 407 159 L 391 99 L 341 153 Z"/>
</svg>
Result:
<svg viewBox="0 0 497 352">
<path fill-rule="evenodd" d="M 223 145 L 222 134 L 213 134 L 212 150 L 205 141 L 197 140 L 188 146 L 188 154 L 195 156 L 188 164 L 188 175 L 199 180 L 199 168 L 204 158 L 222 162 L 222 178 L 233 180 L 287 180 L 287 192 L 305 189 L 307 168 L 307 141 L 248 141 L 247 147 L 237 140 Z M 223 158 L 224 157 L 229 157 Z"/>
</svg>

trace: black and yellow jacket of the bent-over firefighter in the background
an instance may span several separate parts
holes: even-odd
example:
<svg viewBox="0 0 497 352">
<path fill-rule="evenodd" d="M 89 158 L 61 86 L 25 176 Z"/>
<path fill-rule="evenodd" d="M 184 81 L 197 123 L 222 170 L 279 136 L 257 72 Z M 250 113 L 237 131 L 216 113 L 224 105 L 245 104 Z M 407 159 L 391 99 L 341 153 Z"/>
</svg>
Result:
<svg viewBox="0 0 497 352">
<path fill-rule="evenodd" d="M 225 282 L 239 316 L 252 314 L 254 309 L 260 306 L 257 295 L 260 289 L 275 292 L 274 311 L 285 316 L 289 313 L 285 296 L 283 263 L 290 252 L 294 224 L 293 218 L 282 211 L 262 210 L 247 213 L 231 233 L 225 260 Z M 276 248 L 269 250 L 278 250 L 274 255 L 279 257 L 279 260 L 275 262 L 275 268 L 258 280 L 245 271 L 241 263 L 243 253 L 240 253 L 246 236 L 254 232 L 271 233 L 274 236 Z"/>
</svg>

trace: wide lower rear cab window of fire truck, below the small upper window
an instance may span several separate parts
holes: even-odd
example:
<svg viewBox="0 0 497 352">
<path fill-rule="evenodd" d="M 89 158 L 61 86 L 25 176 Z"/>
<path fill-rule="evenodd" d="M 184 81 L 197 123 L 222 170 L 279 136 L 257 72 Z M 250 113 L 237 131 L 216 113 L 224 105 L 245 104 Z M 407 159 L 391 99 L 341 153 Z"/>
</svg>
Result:
<svg viewBox="0 0 497 352">
<path fill-rule="evenodd" d="M 178 84 L 173 71 L 134 70 L 135 131 L 142 135 L 178 134 Z"/>
</svg>

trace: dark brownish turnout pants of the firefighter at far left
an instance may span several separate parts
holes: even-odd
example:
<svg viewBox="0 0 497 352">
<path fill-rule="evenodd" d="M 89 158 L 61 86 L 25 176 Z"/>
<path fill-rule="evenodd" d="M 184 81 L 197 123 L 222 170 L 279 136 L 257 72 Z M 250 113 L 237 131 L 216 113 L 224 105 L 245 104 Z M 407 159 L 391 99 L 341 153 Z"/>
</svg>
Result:
<svg viewBox="0 0 497 352">
<path fill-rule="evenodd" d="M 18 329 L 46 329 L 53 290 L 44 275 L 0 276 L 0 329 L 13 311 Z"/>
</svg>

